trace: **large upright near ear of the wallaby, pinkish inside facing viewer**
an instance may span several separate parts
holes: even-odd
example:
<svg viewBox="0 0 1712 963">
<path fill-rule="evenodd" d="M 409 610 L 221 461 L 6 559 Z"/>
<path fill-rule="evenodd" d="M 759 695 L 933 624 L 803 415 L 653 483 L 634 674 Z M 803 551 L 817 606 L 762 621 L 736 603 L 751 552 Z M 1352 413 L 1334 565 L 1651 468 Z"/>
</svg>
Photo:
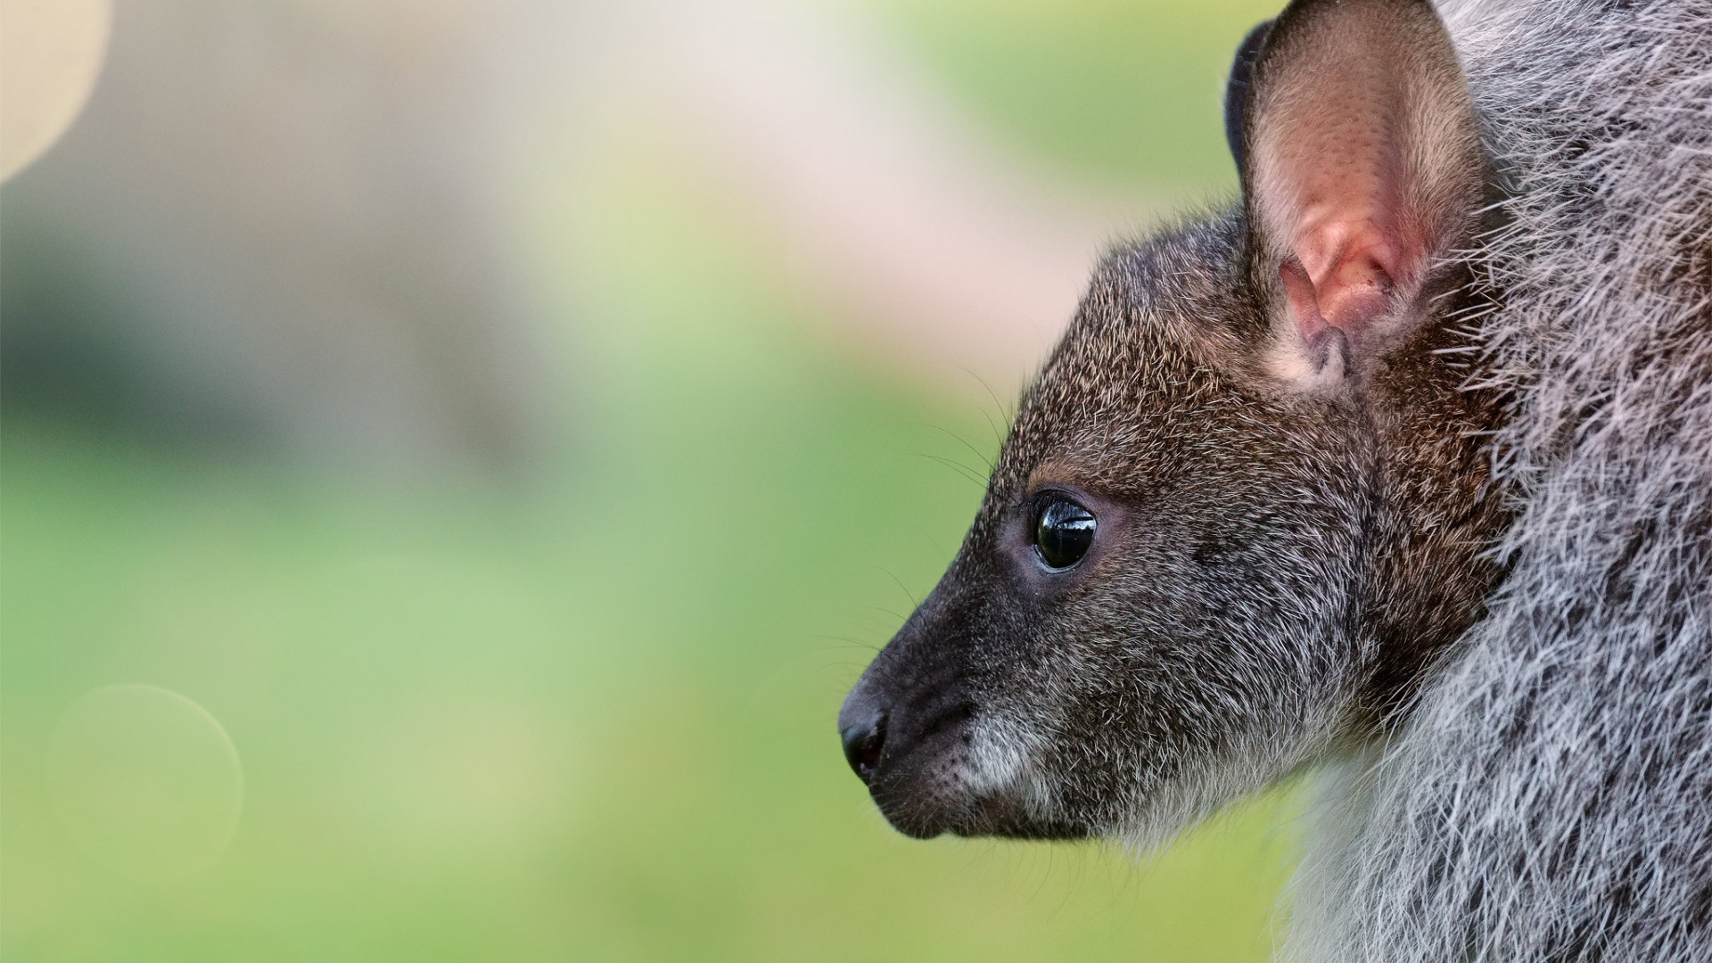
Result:
<svg viewBox="0 0 1712 963">
<path fill-rule="evenodd" d="M 1269 367 L 1335 389 L 1433 317 L 1488 180 L 1474 108 L 1428 0 L 1294 0 L 1250 84 L 1243 197 Z"/>
</svg>

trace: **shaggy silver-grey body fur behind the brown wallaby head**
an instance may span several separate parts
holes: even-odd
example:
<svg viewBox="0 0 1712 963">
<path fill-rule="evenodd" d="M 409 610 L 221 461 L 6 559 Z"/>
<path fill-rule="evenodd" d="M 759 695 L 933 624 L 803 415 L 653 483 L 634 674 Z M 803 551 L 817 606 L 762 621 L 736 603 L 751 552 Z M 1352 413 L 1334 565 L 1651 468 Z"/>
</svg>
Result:
<svg viewBox="0 0 1712 963">
<path fill-rule="evenodd" d="M 1712 960 L 1712 3 L 1459 2 L 1525 511 L 1491 615 L 1349 763 L 1313 960 Z"/>
</svg>

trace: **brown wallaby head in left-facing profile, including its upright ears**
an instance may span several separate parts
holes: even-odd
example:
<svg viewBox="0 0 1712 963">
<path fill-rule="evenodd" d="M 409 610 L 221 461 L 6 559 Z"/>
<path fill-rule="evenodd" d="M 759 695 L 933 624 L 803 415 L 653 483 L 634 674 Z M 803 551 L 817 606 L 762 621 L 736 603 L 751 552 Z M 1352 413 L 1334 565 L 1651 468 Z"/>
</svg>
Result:
<svg viewBox="0 0 1712 963">
<path fill-rule="evenodd" d="M 1500 577 L 1457 324 L 1489 178 L 1433 7 L 1291 3 L 1231 91 L 1241 206 L 1097 269 L 844 703 L 904 833 L 1159 838 L 1383 735 Z"/>
</svg>

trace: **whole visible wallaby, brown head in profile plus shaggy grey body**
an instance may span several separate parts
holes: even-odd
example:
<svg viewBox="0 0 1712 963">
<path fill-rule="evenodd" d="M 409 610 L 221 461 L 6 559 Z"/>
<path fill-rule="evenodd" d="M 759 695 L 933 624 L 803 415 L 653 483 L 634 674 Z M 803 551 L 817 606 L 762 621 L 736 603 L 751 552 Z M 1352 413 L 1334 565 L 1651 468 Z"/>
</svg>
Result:
<svg viewBox="0 0 1712 963">
<path fill-rule="evenodd" d="M 1712 0 L 1296 0 L 839 713 L 912 836 L 1318 768 L 1286 954 L 1712 960 Z"/>
</svg>

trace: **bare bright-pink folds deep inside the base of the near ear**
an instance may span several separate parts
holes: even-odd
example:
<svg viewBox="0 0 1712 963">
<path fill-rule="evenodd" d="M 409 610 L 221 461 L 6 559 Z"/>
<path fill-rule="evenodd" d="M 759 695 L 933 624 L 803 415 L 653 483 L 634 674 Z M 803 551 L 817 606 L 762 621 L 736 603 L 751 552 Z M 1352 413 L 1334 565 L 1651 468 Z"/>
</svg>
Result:
<svg viewBox="0 0 1712 963">
<path fill-rule="evenodd" d="M 1394 231 L 1373 218 L 1335 219 L 1310 211 L 1294 236 L 1294 257 L 1281 267 L 1291 314 L 1311 344 L 1327 327 L 1359 341 L 1390 310 L 1404 259 Z"/>
</svg>

